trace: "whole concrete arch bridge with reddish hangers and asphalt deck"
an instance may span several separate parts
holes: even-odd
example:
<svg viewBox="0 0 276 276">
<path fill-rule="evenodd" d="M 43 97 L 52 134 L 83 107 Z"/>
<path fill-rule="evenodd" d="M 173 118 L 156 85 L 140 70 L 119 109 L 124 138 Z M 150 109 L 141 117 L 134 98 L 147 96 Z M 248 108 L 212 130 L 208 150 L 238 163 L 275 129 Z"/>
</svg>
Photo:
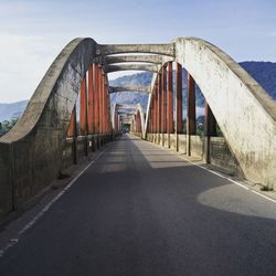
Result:
<svg viewBox="0 0 276 276">
<path fill-rule="evenodd" d="M 109 86 L 108 73 L 129 70 L 152 72 L 151 85 Z M 205 98 L 201 136 L 195 86 Z M 147 109 L 112 104 L 109 95 L 124 91 L 146 93 Z M 88 163 L 26 226 L 9 232 L 15 238 L 0 248 L 0 272 L 273 275 L 275 200 L 217 170 L 275 185 L 275 137 L 276 103 L 206 41 L 75 39 L 0 139 L 0 217 L 40 197 L 73 164 Z"/>
</svg>

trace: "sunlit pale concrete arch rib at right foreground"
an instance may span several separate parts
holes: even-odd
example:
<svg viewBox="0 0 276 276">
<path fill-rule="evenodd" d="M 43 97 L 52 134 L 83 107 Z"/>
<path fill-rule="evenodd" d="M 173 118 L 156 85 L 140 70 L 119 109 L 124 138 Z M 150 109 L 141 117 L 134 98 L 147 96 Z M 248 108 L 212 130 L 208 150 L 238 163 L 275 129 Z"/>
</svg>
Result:
<svg viewBox="0 0 276 276">
<path fill-rule="evenodd" d="M 199 39 L 178 39 L 176 60 L 195 79 L 245 177 L 276 183 L 276 103 L 229 55 Z"/>
</svg>

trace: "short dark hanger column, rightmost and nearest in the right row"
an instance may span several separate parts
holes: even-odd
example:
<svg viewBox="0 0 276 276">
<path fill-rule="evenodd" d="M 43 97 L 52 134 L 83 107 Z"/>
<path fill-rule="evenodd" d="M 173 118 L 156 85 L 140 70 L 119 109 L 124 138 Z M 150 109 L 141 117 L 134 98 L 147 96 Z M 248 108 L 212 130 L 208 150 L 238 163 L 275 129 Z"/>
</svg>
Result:
<svg viewBox="0 0 276 276">
<path fill-rule="evenodd" d="M 216 136 L 216 120 L 215 117 L 205 102 L 205 145 L 204 145 L 204 161 L 210 163 L 210 137 Z"/>
</svg>

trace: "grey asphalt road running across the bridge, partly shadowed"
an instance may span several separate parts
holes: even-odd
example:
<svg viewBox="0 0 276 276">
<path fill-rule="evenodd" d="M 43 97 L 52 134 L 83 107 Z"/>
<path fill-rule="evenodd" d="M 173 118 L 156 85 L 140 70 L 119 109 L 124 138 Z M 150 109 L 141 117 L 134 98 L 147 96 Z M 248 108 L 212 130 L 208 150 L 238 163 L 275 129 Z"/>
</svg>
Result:
<svg viewBox="0 0 276 276">
<path fill-rule="evenodd" d="M 276 204 L 124 136 L 0 257 L 0 275 L 276 275 Z"/>
</svg>

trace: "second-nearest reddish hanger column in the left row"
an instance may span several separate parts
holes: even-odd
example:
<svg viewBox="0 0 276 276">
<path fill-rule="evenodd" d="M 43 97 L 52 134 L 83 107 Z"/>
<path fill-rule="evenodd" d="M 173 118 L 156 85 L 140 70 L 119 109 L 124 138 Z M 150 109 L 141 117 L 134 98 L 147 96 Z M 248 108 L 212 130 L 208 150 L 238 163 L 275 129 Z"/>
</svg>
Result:
<svg viewBox="0 0 276 276">
<path fill-rule="evenodd" d="M 88 156 L 87 147 L 87 86 L 86 86 L 86 76 L 83 78 L 81 84 L 79 93 L 79 132 L 81 136 L 84 136 L 84 155 Z"/>
</svg>

